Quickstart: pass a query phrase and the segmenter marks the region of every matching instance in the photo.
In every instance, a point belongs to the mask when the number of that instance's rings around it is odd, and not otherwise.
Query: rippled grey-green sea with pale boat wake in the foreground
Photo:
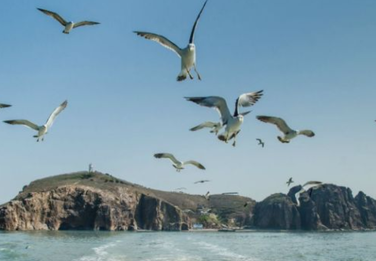
[[[0,232],[9,261],[376,261],[376,232]]]

